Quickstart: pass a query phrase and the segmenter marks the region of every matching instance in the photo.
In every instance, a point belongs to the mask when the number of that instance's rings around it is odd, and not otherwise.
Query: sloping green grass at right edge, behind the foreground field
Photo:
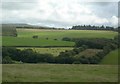
[[[117,65],[118,64],[118,52],[120,52],[120,49],[111,51],[108,55],[104,57],[104,59],[101,61],[101,64]]]

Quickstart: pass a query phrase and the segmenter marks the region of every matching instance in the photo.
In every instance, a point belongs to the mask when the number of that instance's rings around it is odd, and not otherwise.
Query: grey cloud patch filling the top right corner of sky
[[[93,2],[89,5],[93,12],[100,17],[110,18],[118,14],[117,2]]]

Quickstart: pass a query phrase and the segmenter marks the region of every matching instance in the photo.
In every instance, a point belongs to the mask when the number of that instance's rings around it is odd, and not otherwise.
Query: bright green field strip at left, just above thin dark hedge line
[[[19,37],[3,37],[3,46],[74,46],[74,42]]]

